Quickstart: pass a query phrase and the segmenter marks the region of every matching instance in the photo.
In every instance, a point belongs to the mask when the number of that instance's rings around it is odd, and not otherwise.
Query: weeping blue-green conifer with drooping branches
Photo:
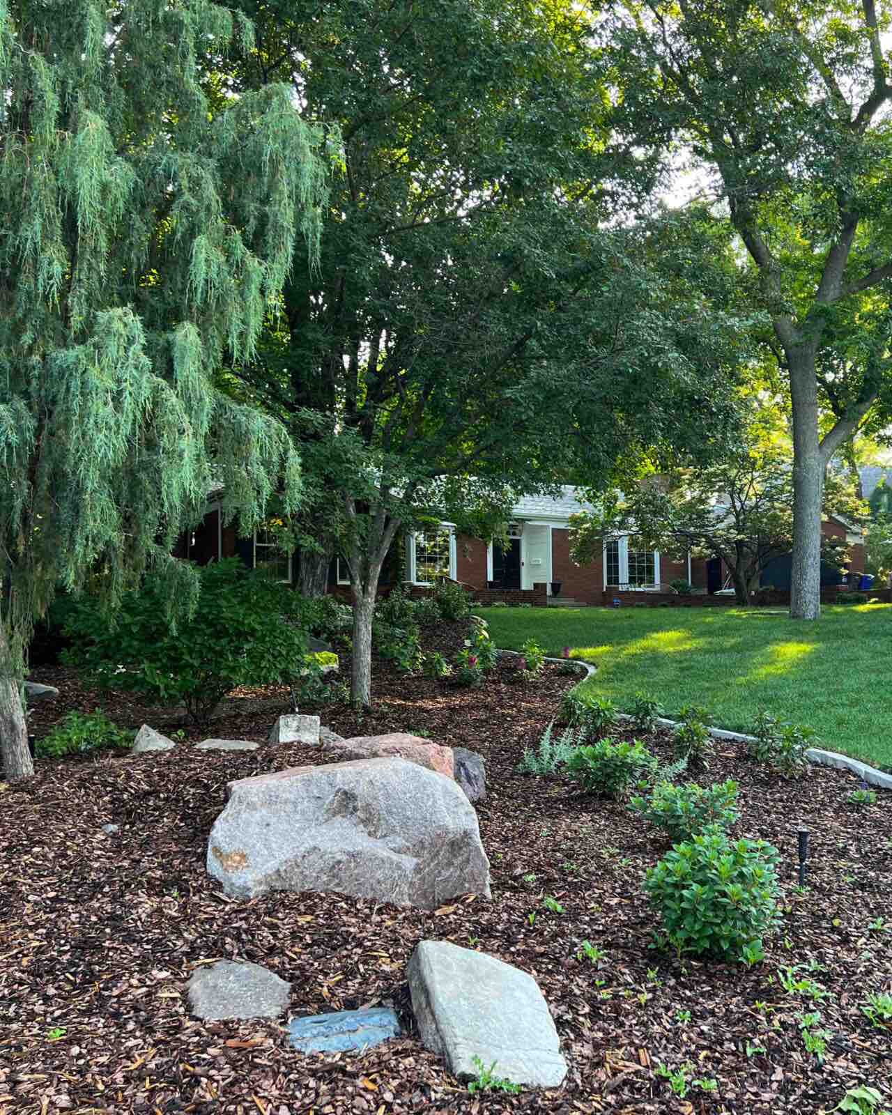
[[[250,358],[299,233],[312,258],[322,137],[271,85],[209,113],[197,54],[250,26],[205,0],[109,9],[0,0],[0,745],[32,773],[19,685],[57,586],[109,601],[168,555],[212,481],[246,525],[298,459],[221,395]]]

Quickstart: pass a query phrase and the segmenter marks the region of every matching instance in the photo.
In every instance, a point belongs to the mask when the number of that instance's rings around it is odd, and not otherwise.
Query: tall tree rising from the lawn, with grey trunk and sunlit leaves
[[[740,289],[767,313],[766,345],[789,382],[799,619],[821,610],[826,466],[892,416],[884,8],[626,0],[593,25],[622,90],[618,134],[651,149],[683,144],[745,245]]]

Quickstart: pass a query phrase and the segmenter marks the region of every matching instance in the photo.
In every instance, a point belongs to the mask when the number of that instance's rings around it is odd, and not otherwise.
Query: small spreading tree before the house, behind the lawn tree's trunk
[[[864,517],[851,481],[830,474],[823,512]],[[735,599],[747,607],[766,566],[793,545],[793,469],[779,448],[746,446],[707,468],[680,468],[636,485],[602,510],[571,517],[571,556],[581,564],[601,556],[604,540],[630,534],[646,550],[682,561],[719,558]],[[836,569],[847,561],[844,540],[822,539],[822,558]]]

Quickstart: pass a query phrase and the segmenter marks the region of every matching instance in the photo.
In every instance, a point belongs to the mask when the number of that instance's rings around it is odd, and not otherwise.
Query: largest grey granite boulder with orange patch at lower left
[[[489,898],[477,815],[450,779],[400,758],[293,767],[229,785],[207,870],[234,898],[337,891],[434,910]]]

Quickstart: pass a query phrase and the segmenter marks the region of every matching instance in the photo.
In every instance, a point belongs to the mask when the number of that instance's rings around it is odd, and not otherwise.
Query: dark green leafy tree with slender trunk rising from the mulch
[[[650,204],[650,167],[599,120],[604,78],[572,3],[244,10],[259,49],[232,52],[235,87],[290,81],[309,118],[339,124],[345,162],[318,272],[295,269],[281,329],[229,389],[300,446],[317,495],[298,537],[316,531],[319,559],[349,568],[367,704],[398,529],[484,532],[517,493],[723,442],[736,326],[697,287],[708,254],[658,271],[620,220]]]

